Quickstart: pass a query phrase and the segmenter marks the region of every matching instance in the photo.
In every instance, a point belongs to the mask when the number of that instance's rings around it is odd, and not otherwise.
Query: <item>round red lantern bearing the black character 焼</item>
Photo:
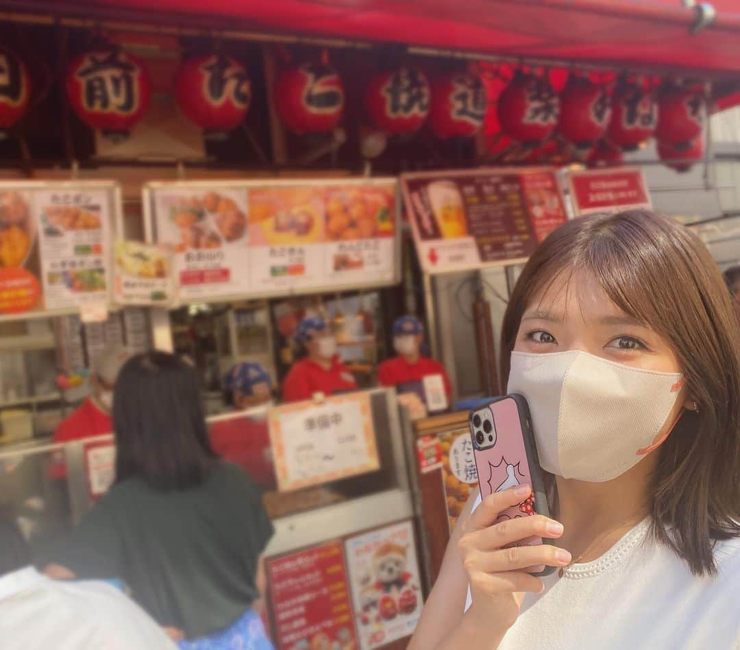
[[[380,72],[371,79],[365,105],[370,121],[381,131],[391,135],[412,133],[428,115],[430,95],[424,73],[402,67]]]

